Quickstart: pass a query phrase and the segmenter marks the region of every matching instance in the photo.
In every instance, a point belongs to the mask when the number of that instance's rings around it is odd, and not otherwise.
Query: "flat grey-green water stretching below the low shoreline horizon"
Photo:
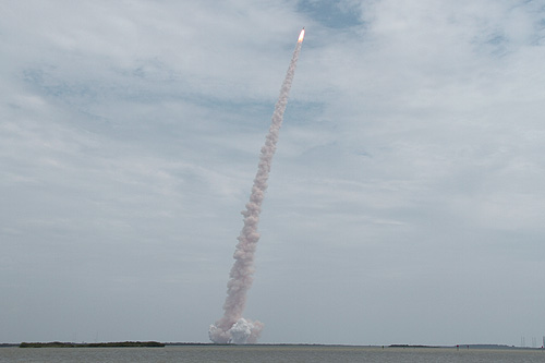
[[[0,362],[545,362],[545,352],[323,346],[0,348]]]

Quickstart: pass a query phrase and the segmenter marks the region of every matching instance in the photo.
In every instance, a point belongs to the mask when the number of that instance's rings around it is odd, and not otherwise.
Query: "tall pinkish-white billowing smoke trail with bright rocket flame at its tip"
[[[257,341],[259,332],[263,329],[263,323],[252,322],[242,317],[246,305],[246,292],[252,286],[252,275],[254,274],[254,253],[259,240],[257,233],[257,223],[262,211],[262,203],[267,189],[267,179],[270,172],[270,164],[275,155],[278,133],[282,125],[283,112],[288,104],[291,83],[295,73],[299,52],[304,38],[304,28],[299,35],[298,45],[293,51],[288,73],[280,88],[280,96],[275,106],[269,133],[262,147],[257,173],[254,179],[250,202],[246,204],[246,210],[242,211],[244,216],[244,227],[238,238],[239,243],[234,251],[234,264],[231,268],[230,279],[227,283],[227,298],[223,304],[223,317],[210,325],[208,336],[215,343],[253,343]]]

